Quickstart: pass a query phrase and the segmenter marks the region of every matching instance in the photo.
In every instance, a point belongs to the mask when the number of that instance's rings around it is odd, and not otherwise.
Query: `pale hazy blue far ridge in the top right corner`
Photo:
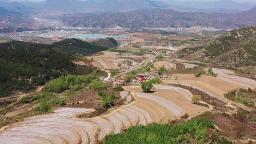
[[[170,3],[178,6],[187,6],[196,9],[219,10],[219,11],[234,11],[243,12],[251,9],[256,2],[236,2],[232,0],[218,1],[178,1],[178,0],[162,0],[165,3]]]

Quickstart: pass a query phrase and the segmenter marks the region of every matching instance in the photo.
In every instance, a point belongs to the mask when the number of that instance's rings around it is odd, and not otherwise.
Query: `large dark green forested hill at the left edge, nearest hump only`
[[[34,89],[71,72],[75,67],[71,59],[69,53],[47,45],[23,42],[0,44],[0,97],[10,96],[18,90]]]

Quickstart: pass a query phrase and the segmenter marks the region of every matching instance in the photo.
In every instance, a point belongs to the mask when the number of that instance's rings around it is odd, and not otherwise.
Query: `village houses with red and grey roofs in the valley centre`
[[[152,69],[149,72],[143,72],[143,73],[139,73],[136,75],[135,79],[131,79],[130,82],[131,83],[143,83],[146,82],[148,80],[150,80],[152,78],[152,76],[156,77],[158,76],[158,69]],[[163,72],[163,76],[158,76],[158,79],[162,80],[162,79],[166,79],[168,78],[169,73],[167,72]],[[109,84],[113,84],[113,85],[118,85],[118,84],[126,84],[125,81],[123,80],[126,77],[126,75],[122,75],[121,79],[115,79],[115,80],[108,80],[107,82]]]

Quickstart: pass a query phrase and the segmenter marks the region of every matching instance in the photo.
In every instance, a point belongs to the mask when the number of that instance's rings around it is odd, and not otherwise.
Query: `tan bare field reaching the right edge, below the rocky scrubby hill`
[[[175,76],[178,77],[174,80]],[[163,80],[163,82],[190,84],[199,87],[201,90],[207,92],[209,95],[217,96],[220,99],[226,99],[223,94],[242,87],[256,87],[256,81],[234,75],[219,74],[218,77],[202,75],[199,78],[195,78],[194,74],[173,74],[171,80]]]

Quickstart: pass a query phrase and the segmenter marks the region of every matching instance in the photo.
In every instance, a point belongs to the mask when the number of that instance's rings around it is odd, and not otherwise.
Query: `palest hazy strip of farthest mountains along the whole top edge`
[[[40,2],[13,2],[0,0],[0,7],[9,9],[35,9],[38,11],[108,11],[124,12],[132,10],[151,10],[154,8],[173,9],[181,12],[242,12],[251,9],[256,3],[238,3],[232,0],[211,1],[188,1],[177,0],[156,1],[156,0],[46,0]],[[47,12],[44,11],[44,12]]]

